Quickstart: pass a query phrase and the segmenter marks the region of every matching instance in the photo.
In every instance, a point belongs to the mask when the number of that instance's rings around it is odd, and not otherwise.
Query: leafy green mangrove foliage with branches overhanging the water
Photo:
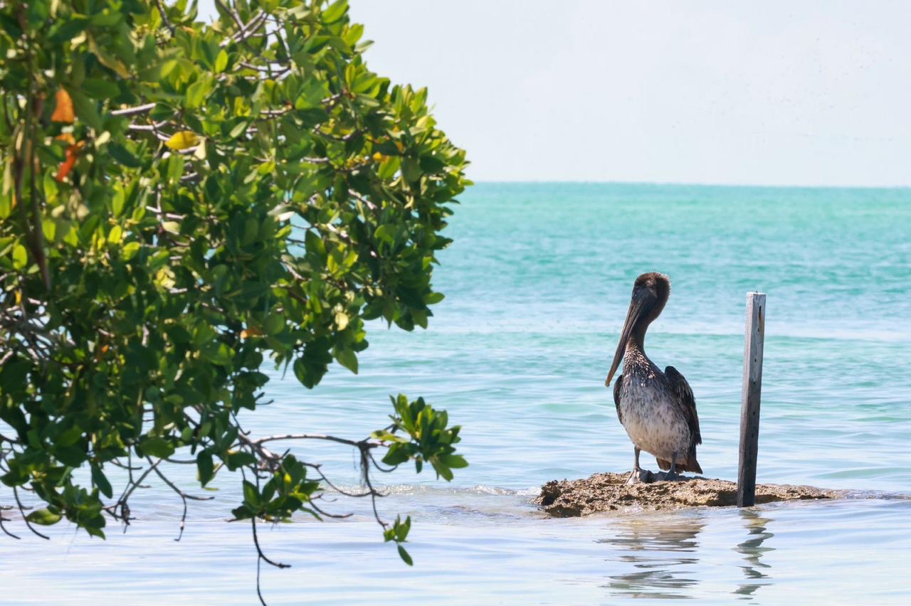
[[[216,5],[204,24],[187,0],[0,3],[0,480],[46,503],[30,522],[104,536],[186,450],[202,485],[245,471],[239,519],[320,515],[318,465],[238,422],[262,365],[307,388],[333,361],[356,373],[366,321],[425,328],[443,298],[469,182],[426,90],[370,71],[345,0]],[[445,412],[394,409],[337,441],[368,469],[376,448],[446,480],[466,465]]]

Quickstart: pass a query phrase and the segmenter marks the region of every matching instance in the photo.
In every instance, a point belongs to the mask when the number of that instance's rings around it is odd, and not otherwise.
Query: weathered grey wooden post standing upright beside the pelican
[[[746,294],[746,344],[743,348],[740,467],[737,471],[737,507],[756,501],[756,454],[759,448],[759,399],[763,388],[765,295]]]

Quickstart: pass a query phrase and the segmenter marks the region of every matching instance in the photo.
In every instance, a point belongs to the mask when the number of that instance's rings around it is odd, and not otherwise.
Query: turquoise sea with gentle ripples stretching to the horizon
[[[263,527],[270,603],[911,601],[911,190],[479,184],[455,207],[430,328],[376,324],[361,374],[308,391],[274,374],[255,433],[361,438],[388,395],[423,395],[461,424],[455,480],[400,470],[381,514],[414,520],[410,569],[369,504],[347,520]],[[829,502],[748,510],[543,518],[547,480],[629,470],[604,387],[633,279],[670,275],[646,341],[696,395],[705,475],[735,479],[745,293],[767,294],[759,481],[844,490]],[[354,486],[350,449],[295,447]],[[654,460],[644,457],[651,469]],[[189,466],[173,475],[193,480]],[[107,541],[73,527],[0,539],[3,603],[254,603],[249,526],[236,500],[191,503],[154,485]]]

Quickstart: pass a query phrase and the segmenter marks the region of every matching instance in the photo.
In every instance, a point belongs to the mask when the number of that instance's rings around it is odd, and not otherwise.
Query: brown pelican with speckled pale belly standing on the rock
[[[623,374],[614,384],[614,404],[635,453],[630,483],[649,477],[639,466],[640,450],[654,455],[658,466],[668,470],[660,474],[665,480],[679,478],[678,471],[702,473],[696,460],[696,445],[702,443],[702,437],[690,384],[674,367],[661,372],[645,355],[645,331],[660,316],[669,296],[670,278],[664,274],[650,272],[636,278],[617,353],[604,382],[610,386],[622,359]]]

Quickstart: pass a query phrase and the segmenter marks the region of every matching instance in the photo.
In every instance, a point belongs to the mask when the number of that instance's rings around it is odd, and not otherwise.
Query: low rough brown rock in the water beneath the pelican
[[[596,473],[581,480],[552,480],[541,487],[535,504],[556,518],[587,516],[599,511],[676,510],[725,507],[737,503],[737,484],[727,480],[686,478],[627,484],[628,473]],[[756,485],[756,504],[776,500],[832,499],[832,490],[812,486]]]

